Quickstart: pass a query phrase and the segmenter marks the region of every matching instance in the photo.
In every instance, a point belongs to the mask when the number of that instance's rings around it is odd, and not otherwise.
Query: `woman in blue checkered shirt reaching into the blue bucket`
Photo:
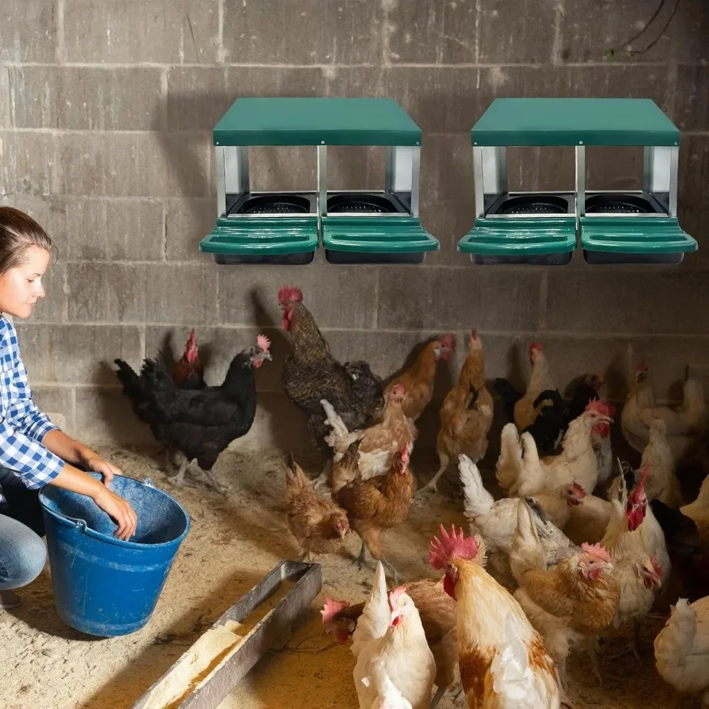
[[[56,485],[90,497],[128,540],[138,518],[111,492],[121,470],[67,436],[32,401],[17,335],[6,316],[28,318],[44,298],[42,277],[52,242],[25,213],[0,207],[0,609],[20,603],[14,588],[33,581],[45,564],[38,489]],[[103,481],[79,469],[99,472]]]

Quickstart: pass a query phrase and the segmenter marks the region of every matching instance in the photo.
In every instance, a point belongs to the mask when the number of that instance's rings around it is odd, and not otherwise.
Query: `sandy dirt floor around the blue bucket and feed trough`
[[[181,501],[192,528],[177,555],[150,622],[132,635],[96,640],[68,627],[55,613],[48,567],[21,590],[23,605],[0,612],[0,705],[64,709],[126,709],[208,628],[216,618],[281,559],[298,558],[298,549],[280,510],[284,473],[280,459],[264,454],[225,452],[214,472],[230,493],[223,498],[203,479],[176,489],[157,455],[106,450],[125,474],[152,477]],[[416,469],[414,470],[416,472]],[[314,470],[313,470],[314,473]],[[429,471],[426,471],[427,476]],[[403,580],[428,576],[426,550],[440,522],[464,523],[462,503],[441,496],[417,501],[405,525],[384,536],[391,562]],[[467,527],[466,527],[467,528]],[[357,708],[352,682],[354,658],[347,645],[323,635],[319,610],[325,595],[363,600],[371,570],[352,564],[359,540],[352,534],[342,555],[320,559],[323,591],[281,652],[271,652],[236,686],[220,709],[280,707]],[[688,707],[654,669],[652,638],[663,625],[649,620],[642,636],[643,661],[632,655],[610,659],[623,639],[605,644],[603,687],[588,659],[578,654],[569,665],[574,707],[654,709]],[[696,706],[699,700],[696,699]],[[454,706],[445,697],[441,709]]]

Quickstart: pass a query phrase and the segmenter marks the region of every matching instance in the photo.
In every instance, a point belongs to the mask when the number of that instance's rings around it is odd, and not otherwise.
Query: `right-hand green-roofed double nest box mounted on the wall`
[[[591,264],[678,264],[697,242],[677,220],[679,129],[649,99],[496,99],[471,130],[479,264],[562,265],[577,234]],[[508,191],[508,146],[575,147],[575,189]],[[586,191],[586,146],[642,146],[643,189]]]

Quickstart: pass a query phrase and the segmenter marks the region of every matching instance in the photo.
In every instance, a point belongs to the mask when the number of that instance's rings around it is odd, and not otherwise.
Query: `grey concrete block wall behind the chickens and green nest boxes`
[[[275,361],[240,445],[301,446],[284,402],[276,294],[299,284],[333,352],[387,375],[415,345],[476,327],[489,377],[525,381],[533,337],[557,384],[607,369],[622,399],[644,355],[675,400],[709,373],[709,8],[681,0],[630,48],[655,0],[0,0],[0,196],[48,228],[48,297],[18,323],[35,396],[89,441],[149,442],[116,387],[197,328],[218,382],[258,331]],[[668,24],[669,21],[669,24]],[[664,31],[663,31],[664,28]],[[657,42],[653,40],[658,37]],[[649,46],[648,45],[652,45]],[[610,48],[615,48],[610,56]],[[391,96],[423,128],[421,218],[441,242],[420,267],[218,267],[198,251],[216,213],[211,128],[238,96]],[[648,96],[683,131],[680,267],[474,267],[469,129],[496,96]],[[330,150],[335,186],[379,186],[379,149]],[[313,150],[253,150],[256,186],[314,184]],[[517,150],[510,179],[568,185],[571,150]],[[635,188],[640,152],[589,150],[591,186]],[[578,255],[577,255],[578,256]],[[438,396],[464,352],[442,369]],[[436,404],[422,421],[432,447]]]

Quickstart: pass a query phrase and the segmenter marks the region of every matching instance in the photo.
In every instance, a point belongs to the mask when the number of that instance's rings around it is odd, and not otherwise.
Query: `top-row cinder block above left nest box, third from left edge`
[[[379,57],[379,5],[264,0],[224,4],[229,64],[362,64]],[[284,38],[298,38],[287,40]]]

